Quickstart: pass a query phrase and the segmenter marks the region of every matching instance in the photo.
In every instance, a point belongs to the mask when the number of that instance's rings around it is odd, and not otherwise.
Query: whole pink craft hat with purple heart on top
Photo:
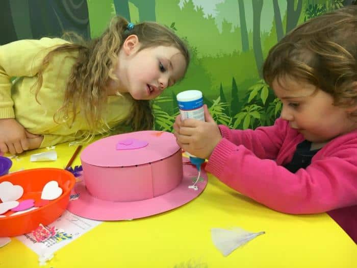
[[[172,133],[139,131],[100,139],[81,154],[83,181],[71,194],[68,210],[100,221],[132,220],[180,207],[207,185],[204,170],[198,190],[188,188],[198,175],[183,158]]]

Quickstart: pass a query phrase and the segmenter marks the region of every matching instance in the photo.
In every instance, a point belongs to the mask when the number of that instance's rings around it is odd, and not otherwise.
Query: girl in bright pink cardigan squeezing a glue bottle
[[[274,210],[328,212],[357,241],[357,6],[305,22],[273,46],[265,81],[283,104],[270,127],[176,117],[177,143]]]

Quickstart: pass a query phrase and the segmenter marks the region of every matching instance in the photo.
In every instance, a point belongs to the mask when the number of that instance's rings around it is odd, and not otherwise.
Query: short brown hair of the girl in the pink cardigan
[[[269,51],[263,76],[271,86],[286,77],[329,93],[335,106],[357,104],[357,6],[313,18]]]

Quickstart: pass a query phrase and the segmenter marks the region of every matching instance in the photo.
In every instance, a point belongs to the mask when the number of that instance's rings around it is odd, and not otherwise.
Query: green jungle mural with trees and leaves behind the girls
[[[343,0],[3,0],[0,44],[75,31],[94,38],[114,15],[153,20],[183,37],[191,52],[186,78],[154,101],[155,129],[172,131],[176,94],[203,92],[219,124],[271,125],[281,103],[262,80],[264,58],[303,21],[351,4]]]

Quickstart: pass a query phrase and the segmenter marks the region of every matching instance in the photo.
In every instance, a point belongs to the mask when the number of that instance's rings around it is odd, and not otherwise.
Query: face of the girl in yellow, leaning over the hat
[[[123,44],[125,45],[125,43]],[[138,51],[140,43],[123,46],[124,56],[119,56],[117,76],[120,92],[129,92],[136,100],[151,100],[163,90],[183,78],[186,60],[173,46],[156,46]]]

